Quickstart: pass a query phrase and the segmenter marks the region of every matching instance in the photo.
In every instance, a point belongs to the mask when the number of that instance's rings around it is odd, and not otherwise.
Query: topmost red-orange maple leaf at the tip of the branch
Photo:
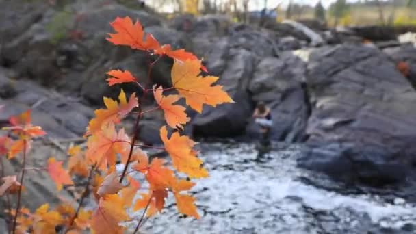
[[[112,25],[116,34],[109,34],[111,38],[107,38],[107,40],[113,44],[127,45],[131,49],[140,49],[143,51],[160,47],[159,42],[157,42],[152,34],[144,34],[143,27],[139,21],[133,24],[133,21],[129,17],[117,17],[110,25]],[[146,40],[143,40],[145,37]]]

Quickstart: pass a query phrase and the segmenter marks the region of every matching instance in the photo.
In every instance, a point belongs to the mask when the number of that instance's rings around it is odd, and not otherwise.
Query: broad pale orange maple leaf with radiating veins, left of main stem
[[[122,156],[122,161],[127,161],[129,146],[129,137],[124,129],[117,133],[116,127],[109,124],[88,138],[86,157],[90,164],[97,164],[98,168],[105,170],[107,166],[116,164],[117,154]]]

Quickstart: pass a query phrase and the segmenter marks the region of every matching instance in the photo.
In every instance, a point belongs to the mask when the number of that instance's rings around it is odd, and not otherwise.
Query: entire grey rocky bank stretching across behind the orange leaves
[[[400,44],[395,37],[363,43],[363,29],[308,28],[293,22],[260,29],[226,16],[166,21],[116,1],[75,1],[65,7],[43,1],[0,3],[0,62],[9,70],[0,71],[1,103],[6,104],[1,121],[31,107],[51,135],[81,135],[92,115],[87,106],[116,95],[104,82],[107,70],[129,69],[138,77],[147,73],[146,56],[105,40],[110,21],[130,16],[160,42],[204,57],[209,72],[221,77],[237,102],[196,116],[185,129],[194,137],[256,139],[258,129],[250,117],[255,103],[264,101],[272,109],[273,140],[309,145],[298,161],[301,166],[372,185],[402,182],[415,171],[413,44]],[[374,40],[380,38],[386,39]],[[406,62],[408,74],[398,71],[398,62]],[[168,59],[157,62],[152,81],[168,86],[171,64]],[[55,99],[50,91],[38,92],[45,90],[38,84],[70,96],[75,104]],[[157,134],[151,133],[161,125],[157,114],[145,118],[142,140],[157,144]]]

